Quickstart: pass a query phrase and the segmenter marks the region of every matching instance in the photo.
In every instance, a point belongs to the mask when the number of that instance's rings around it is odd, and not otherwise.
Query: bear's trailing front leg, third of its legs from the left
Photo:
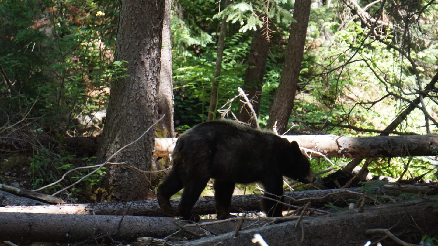
[[[231,198],[233,196],[235,183],[215,180],[215,208],[218,219],[230,218]]]

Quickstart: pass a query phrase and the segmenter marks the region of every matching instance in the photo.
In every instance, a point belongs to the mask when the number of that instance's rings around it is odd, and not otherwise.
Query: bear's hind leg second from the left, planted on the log
[[[199,221],[199,215],[192,214],[191,209],[201,196],[202,191],[207,185],[209,178],[207,179],[195,179],[184,183],[183,194],[181,195],[181,201],[178,205],[178,212],[184,220],[190,220],[194,222]]]

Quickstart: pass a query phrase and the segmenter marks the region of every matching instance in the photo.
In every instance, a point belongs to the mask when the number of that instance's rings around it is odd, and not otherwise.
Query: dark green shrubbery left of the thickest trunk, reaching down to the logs
[[[105,15],[106,13],[106,15]],[[113,60],[117,3],[67,0],[5,0],[0,4],[1,134],[51,135],[62,143],[73,119],[105,107],[109,83],[126,76],[123,61]],[[15,124],[22,122],[22,124]],[[38,143],[35,143],[38,144]],[[62,148],[35,146],[29,159],[32,186],[52,183],[92,158],[78,160]],[[88,170],[45,190],[52,193]],[[81,185],[99,182],[102,171]],[[75,195],[81,187],[71,190]]]

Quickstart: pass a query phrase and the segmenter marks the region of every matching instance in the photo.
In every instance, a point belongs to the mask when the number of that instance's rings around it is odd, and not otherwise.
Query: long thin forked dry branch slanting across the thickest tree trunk
[[[166,116],[166,114],[164,114],[163,116],[161,116],[161,118],[159,118],[155,123],[153,123],[152,126],[150,126],[150,127],[149,127],[149,128],[143,133],[143,134],[141,134],[140,137],[138,137],[136,140],[134,140],[134,141],[132,141],[131,143],[126,144],[125,146],[123,146],[122,148],[120,148],[118,151],[116,151],[113,155],[111,155],[111,156],[110,156],[105,162],[103,162],[102,164],[99,164],[99,165],[93,165],[93,166],[88,166],[88,167],[78,167],[78,168],[75,168],[75,169],[71,169],[70,171],[66,172],[66,173],[61,177],[61,179],[59,179],[59,180],[57,180],[57,181],[55,181],[55,182],[53,182],[53,183],[51,183],[51,184],[48,184],[48,185],[46,185],[46,186],[43,186],[43,187],[41,187],[41,188],[39,188],[39,189],[32,190],[32,191],[38,191],[38,190],[46,189],[47,187],[53,186],[53,185],[55,185],[55,184],[57,184],[57,183],[60,183],[62,180],[64,180],[65,176],[66,176],[68,173],[73,172],[73,171],[75,171],[75,170],[78,170],[78,169],[85,169],[85,168],[95,168],[95,167],[97,167],[97,169],[95,169],[95,170],[93,170],[92,172],[88,173],[87,175],[83,176],[81,179],[79,179],[78,181],[74,182],[73,184],[71,184],[71,185],[65,187],[65,188],[62,189],[62,190],[58,190],[57,192],[53,193],[52,196],[55,196],[55,195],[57,195],[57,194],[63,192],[64,190],[70,189],[71,187],[77,185],[78,183],[80,183],[82,180],[84,180],[84,179],[87,178],[88,176],[90,176],[90,175],[92,175],[93,173],[95,173],[95,172],[99,171],[100,169],[102,169],[102,167],[103,167],[104,165],[108,164],[109,161],[110,161],[112,158],[114,158],[116,155],[118,155],[118,154],[119,154],[120,152],[122,152],[124,149],[128,148],[128,147],[131,146],[132,144],[135,144],[137,141],[139,141],[143,136],[145,136],[145,134],[146,134],[149,130],[152,129],[152,127],[154,127],[157,123],[159,123],[159,122],[164,118],[164,116]]]

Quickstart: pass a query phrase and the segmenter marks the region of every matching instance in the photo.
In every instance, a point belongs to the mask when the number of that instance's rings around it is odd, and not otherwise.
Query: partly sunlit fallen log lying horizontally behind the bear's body
[[[339,137],[336,135],[284,136],[297,141],[301,147],[318,151],[328,157],[377,158],[403,156],[432,156],[438,149],[438,134],[377,137]],[[177,138],[155,138],[154,156],[169,155]],[[50,141],[46,141],[50,143]],[[0,138],[0,150],[31,149],[26,141]],[[94,155],[97,141],[93,137],[66,138],[67,149],[79,155]],[[313,156],[320,156],[312,154]]]

